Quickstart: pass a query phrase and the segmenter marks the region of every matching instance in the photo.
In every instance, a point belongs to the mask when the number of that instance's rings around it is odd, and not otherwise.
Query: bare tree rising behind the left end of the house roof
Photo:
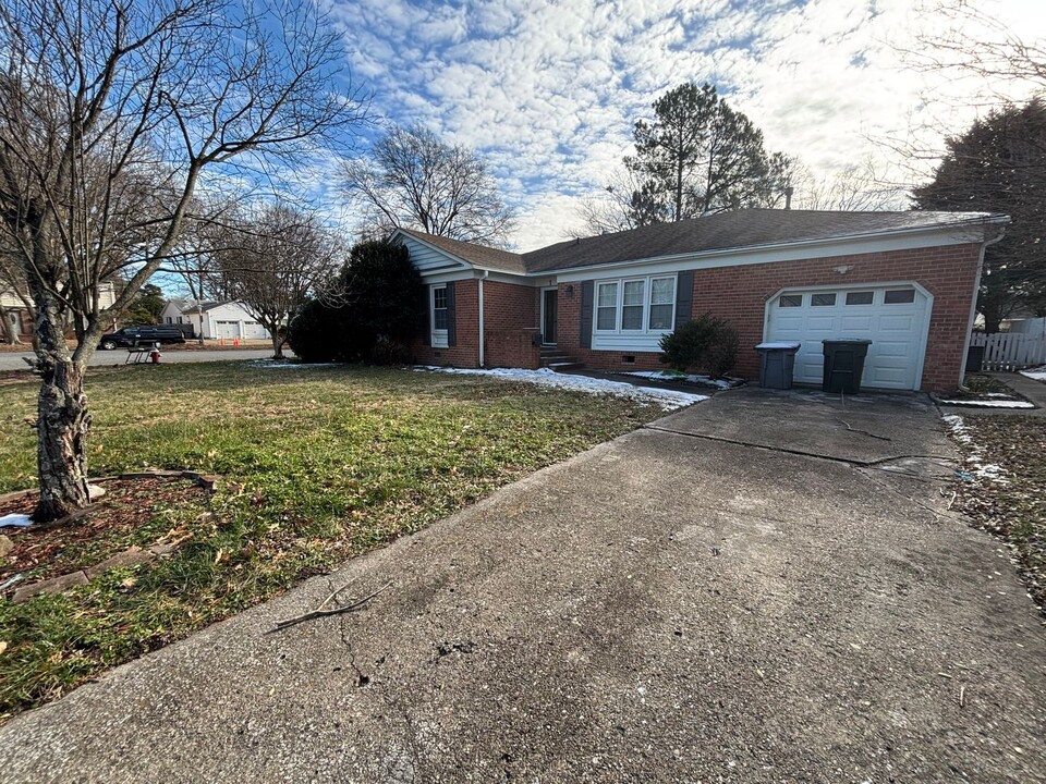
[[[403,226],[503,246],[514,228],[486,163],[426,128],[394,127],[370,155],[345,163],[344,191],[363,212],[363,234]]]

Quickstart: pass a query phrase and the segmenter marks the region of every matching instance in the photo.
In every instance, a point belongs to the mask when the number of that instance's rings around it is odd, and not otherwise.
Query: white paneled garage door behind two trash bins
[[[822,382],[823,340],[867,339],[862,387],[919,389],[931,307],[915,286],[789,291],[767,310],[765,340],[802,343],[796,383]]]

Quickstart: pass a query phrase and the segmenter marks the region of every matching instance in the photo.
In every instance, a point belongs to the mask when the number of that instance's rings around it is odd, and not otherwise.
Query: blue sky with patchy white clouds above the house
[[[919,9],[936,0],[329,1],[375,117],[476,150],[518,211],[518,250],[581,225],[581,199],[620,168],[635,120],[686,81],[715,84],[815,179],[869,160],[912,184],[933,156],[911,171],[899,145],[939,150],[999,91],[1029,94],[912,68],[917,33],[948,24]],[[1046,39],[1043,0],[972,2]]]

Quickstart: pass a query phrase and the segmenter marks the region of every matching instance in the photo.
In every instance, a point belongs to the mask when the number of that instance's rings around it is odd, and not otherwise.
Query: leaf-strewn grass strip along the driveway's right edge
[[[1027,591],[1046,609],[1046,419],[975,416],[963,422],[983,463],[1000,466],[1005,482],[960,482],[963,511],[1009,546]],[[971,445],[959,444],[971,453]]]

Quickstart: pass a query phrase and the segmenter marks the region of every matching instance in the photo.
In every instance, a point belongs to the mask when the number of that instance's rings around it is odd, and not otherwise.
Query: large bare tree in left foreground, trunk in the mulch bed
[[[0,5],[0,228],[36,308],[36,520],[88,503],[83,382],[101,283],[133,269],[113,309],[126,307],[208,172],[242,182],[358,122],[358,99],[336,89],[340,59],[339,33],[306,0]]]

